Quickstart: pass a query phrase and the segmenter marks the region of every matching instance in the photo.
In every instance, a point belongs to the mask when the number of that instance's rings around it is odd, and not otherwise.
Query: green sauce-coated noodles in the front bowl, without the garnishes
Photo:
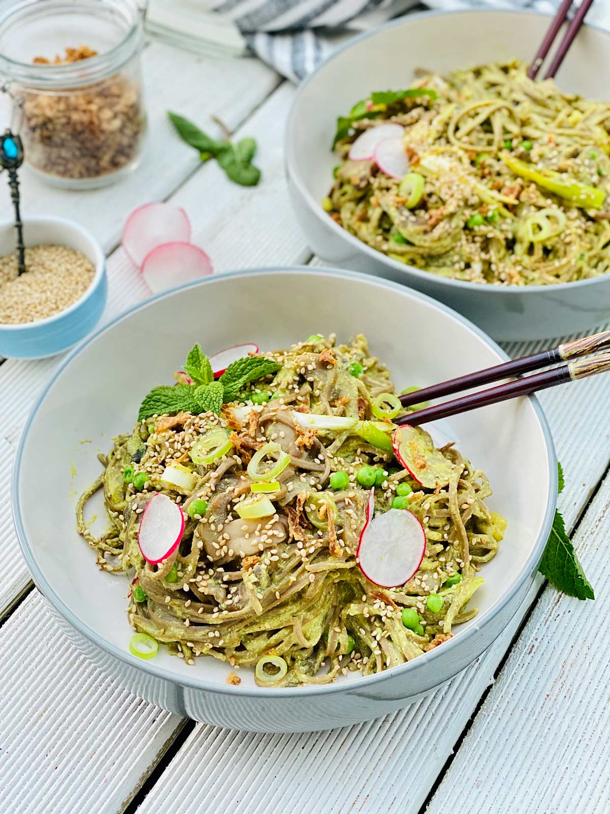
[[[325,684],[349,671],[371,675],[442,645],[454,625],[476,615],[468,602],[482,582],[478,571],[495,556],[506,525],[486,505],[491,494],[486,476],[451,444],[441,450],[451,478],[432,490],[364,440],[359,431],[372,418],[373,399],[393,393],[394,384],[363,336],[350,345],[336,344],[332,335],[311,339],[266,354],[281,369],[246,386],[220,416],[154,417],[120,435],[100,458],[102,475],[76,510],[78,530],[95,549],[98,567],[126,575],[139,589],[130,592],[128,610],[137,632],[164,643],[188,664],[205,655],[231,667],[255,667],[264,658],[277,667],[276,657],[284,659],[286,670],[279,662],[277,679],[261,672],[265,663],[259,665],[256,681],[268,687]],[[261,390],[270,400],[253,404]],[[349,429],[305,430],[295,422],[295,410],[356,423]],[[232,449],[210,466],[195,465],[190,449],[218,427],[231,432]],[[279,490],[265,496],[275,514],[241,520],[237,507],[251,496],[247,465],[268,441],[290,456],[277,475]],[[172,462],[193,473],[192,488],[170,488],[163,481]],[[382,470],[376,513],[390,510],[399,484],[403,494],[408,484],[408,508],[425,528],[419,570],[393,589],[369,582],[355,560],[370,494],[356,479],[361,466]],[[126,469],[128,481],[146,475],[142,491],[125,482]],[[347,485],[335,479],[345,488],[330,487],[333,471],[349,476]],[[95,537],[84,511],[99,489],[109,529]],[[174,553],[153,566],[142,557],[137,532],[146,504],[158,492],[183,507],[185,531]],[[207,502],[205,516],[190,517],[195,500]],[[442,597],[438,612],[426,604],[430,594]],[[416,611],[416,629],[403,624],[403,609]]]

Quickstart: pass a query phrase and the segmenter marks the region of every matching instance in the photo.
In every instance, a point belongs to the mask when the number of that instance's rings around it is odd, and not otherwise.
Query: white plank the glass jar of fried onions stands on
[[[168,110],[187,116],[218,137],[220,129],[212,115],[235,129],[281,81],[257,59],[213,59],[161,42],[150,43],[142,61],[149,128],[139,167],[119,183],[85,192],[55,189],[24,168],[24,217],[30,213],[72,217],[109,251],[120,239],[125,217],[133,208],[165,199],[199,167],[197,152],[173,131]],[[10,219],[11,212],[9,196],[2,195],[2,219]]]

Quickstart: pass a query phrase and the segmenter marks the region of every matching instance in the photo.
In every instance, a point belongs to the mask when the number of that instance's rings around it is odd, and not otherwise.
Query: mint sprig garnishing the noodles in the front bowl
[[[155,387],[142,400],[137,420],[145,421],[152,415],[181,412],[220,414],[222,405],[234,401],[246,384],[277,373],[280,368],[277,361],[267,357],[245,357],[232,362],[215,382],[210,360],[201,346],[196,344],[190,349],[185,364],[185,371],[193,384]]]

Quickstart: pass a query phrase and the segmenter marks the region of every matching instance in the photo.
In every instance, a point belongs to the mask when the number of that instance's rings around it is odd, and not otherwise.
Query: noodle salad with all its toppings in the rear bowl
[[[610,103],[531,81],[525,63],[420,71],[338,119],[323,206],[431,274],[548,285],[610,271]]]

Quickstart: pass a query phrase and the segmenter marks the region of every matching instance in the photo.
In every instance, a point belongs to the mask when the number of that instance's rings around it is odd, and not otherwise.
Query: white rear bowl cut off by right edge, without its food
[[[372,90],[401,88],[418,66],[449,72],[511,57],[532,59],[549,24],[532,11],[407,15],[356,38],[300,86],[285,133],[286,172],[298,222],[323,260],[402,282],[451,305],[495,339],[544,339],[589,330],[610,317],[610,274],[539,287],[496,287],[436,277],[391,260],[336,224],[320,206],[337,156],[337,116]],[[557,82],[610,98],[610,33],[584,26]]]

